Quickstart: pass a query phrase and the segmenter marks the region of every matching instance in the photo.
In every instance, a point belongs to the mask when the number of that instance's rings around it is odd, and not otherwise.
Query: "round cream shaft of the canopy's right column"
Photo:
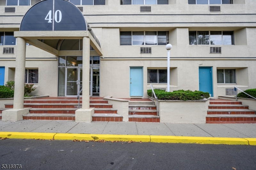
[[[83,38],[83,97],[82,109],[90,108],[90,38]]]

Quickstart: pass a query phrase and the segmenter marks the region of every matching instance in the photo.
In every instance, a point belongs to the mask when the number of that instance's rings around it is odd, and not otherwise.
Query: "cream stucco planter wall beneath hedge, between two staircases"
[[[152,99],[151,97],[148,97]],[[154,99],[156,103],[156,99]],[[160,122],[205,123],[210,99],[204,100],[158,100]]]

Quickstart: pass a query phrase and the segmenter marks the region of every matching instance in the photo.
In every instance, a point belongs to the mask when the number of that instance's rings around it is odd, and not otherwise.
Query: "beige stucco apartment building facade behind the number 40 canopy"
[[[31,5],[28,6],[9,6],[4,1],[0,3],[0,33],[6,37],[3,40],[6,42],[8,32],[14,32],[13,36],[16,36],[15,31],[19,31],[23,16],[39,0],[31,0]],[[167,50],[166,44],[159,45],[160,33],[163,32],[168,32],[165,35],[165,42],[169,39],[169,43],[172,44],[170,91],[204,91],[205,87],[200,87],[200,81],[205,80],[204,77],[200,78],[200,68],[210,69],[210,82],[206,82],[204,86],[210,86],[206,89],[211,90],[211,97],[227,95],[226,89],[234,89],[233,85],[242,90],[256,88],[255,0],[233,0],[233,4],[188,4],[188,0],[169,0],[168,4],[152,5],[121,5],[120,0],[106,0],[105,5],[76,6],[83,7],[82,14],[97,36],[101,48],[100,52],[90,49],[90,96],[146,98],[150,84],[154,88],[166,89]],[[141,6],[151,6],[151,12],[140,12]],[[209,6],[220,6],[220,12],[210,12]],[[8,7],[14,7],[15,12],[6,12]],[[123,33],[126,34],[124,43]],[[144,38],[136,36],[137,33],[144,34],[140,35]],[[154,35],[150,35],[151,33]],[[208,44],[201,43],[200,34],[204,34],[203,38]],[[228,43],[224,43],[226,34],[232,39]],[[156,43],[144,45],[147,43],[147,35],[151,36],[149,42]],[[221,37],[220,41],[218,37]],[[192,42],[193,38],[196,44]],[[141,39],[143,43],[135,45]],[[59,40],[57,43],[56,39],[48,40],[41,42],[57,50],[40,49],[34,46],[33,42],[27,41],[32,45],[26,46],[25,76],[31,76],[29,70],[38,70],[38,78],[32,82],[36,90],[31,95],[74,96],[79,91],[79,86],[75,88],[76,82],[82,82],[79,80],[79,69],[84,65],[78,59],[83,56],[82,39],[79,41],[78,49],[66,47],[67,50],[64,47],[61,49]],[[214,44],[215,41],[219,41],[217,45]],[[15,42],[14,45],[6,45],[5,42],[0,43],[0,68],[4,69],[3,83],[14,81],[15,59],[19,57],[15,52],[19,42]],[[63,41],[61,43],[64,44]],[[130,45],[124,45],[125,43]],[[191,43],[194,45],[190,45]],[[74,44],[76,43],[72,45]],[[4,54],[4,48],[9,47],[14,47],[14,52]],[[151,49],[143,49],[145,47]],[[214,50],[211,53],[211,47],[221,47],[221,51]],[[63,64],[61,59],[65,60],[64,66],[60,65]],[[73,65],[68,65],[68,62],[73,62]],[[63,74],[60,74],[60,67],[64,70]],[[141,68],[141,71],[133,72],[133,68]],[[77,79],[73,76],[73,80],[68,80],[68,69],[76,69]],[[226,73],[225,70],[230,73]],[[204,71],[202,70],[203,74]],[[32,73],[34,74],[33,71]],[[133,86],[133,77],[138,73],[142,73],[141,83]],[[226,78],[218,73],[226,75]],[[29,78],[27,83],[30,83]],[[134,88],[135,93],[139,91],[138,94],[141,95],[134,95]]]

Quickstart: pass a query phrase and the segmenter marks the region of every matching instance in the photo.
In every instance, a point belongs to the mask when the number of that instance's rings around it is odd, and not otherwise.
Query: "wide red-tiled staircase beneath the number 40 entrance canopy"
[[[25,100],[24,107],[31,107],[29,114],[23,115],[24,120],[75,120],[78,100]],[[123,121],[123,116],[117,114],[117,109],[106,100],[90,100],[90,107],[95,108],[92,121]],[[11,108],[13,104],[5,104],[5,108],[0,108],[0,114]]]

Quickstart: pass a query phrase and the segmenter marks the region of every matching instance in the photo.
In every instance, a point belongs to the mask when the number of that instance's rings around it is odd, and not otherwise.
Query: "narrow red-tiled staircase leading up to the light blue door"
[[[130,101],[129,122],[160,122],[156,113],[155,102]]]

